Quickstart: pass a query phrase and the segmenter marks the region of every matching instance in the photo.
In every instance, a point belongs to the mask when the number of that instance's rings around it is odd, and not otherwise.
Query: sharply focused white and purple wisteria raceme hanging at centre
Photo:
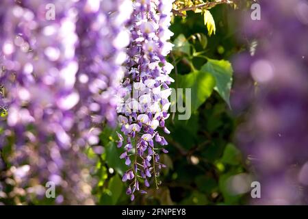
[[[164,164],[159,162],[159,153],[168,153],[163,146],[168,144],[159,130],[169,133],[165,127],[170,102],[168,96],[172,81],[169,77],[173,66],[166,62],[172,49],[168,42],[172,32],[168,29],[171,20],[172,1],[138,0],[134,3],[129,29],[131,42],[128,48],[127,72],[120,90],[122,103],[118,107],[118,147],[124,146],[120,158],[130,166],[123,181],[130,181],[127,194],[134,199],[142,182],[149,187],[150,180],[159,185],[157,176]]]

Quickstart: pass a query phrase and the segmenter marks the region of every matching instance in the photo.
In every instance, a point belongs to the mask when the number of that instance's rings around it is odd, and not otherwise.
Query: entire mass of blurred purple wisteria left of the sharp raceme
[[[55,20],[45,18],[48,3],[55,5]],[[94,203],[92,162],[84,149],[99,143],[99,125],[114,118],[129,5],[1,1],[1,103],[8,116],[0,118],[0,149],[12,147],[5,177],[16,188],[7,198],[43,198],[44,183],[52,181],[56,203]]]

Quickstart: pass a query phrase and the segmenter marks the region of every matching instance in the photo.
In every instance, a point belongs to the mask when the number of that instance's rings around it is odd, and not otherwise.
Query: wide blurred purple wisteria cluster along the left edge
[[[8,104],[8,116],[1,121],[5,130],[1,146],[11,144],[14,149],[8,157],[12,166],[6,171],[13,181],[6,182],[15,189],[7,198],[18,203],[26,194],[26,198],[31,194],[44,197],[44,183],[52,181],[60,191],[57,203],[90,202],[90,192],[82,191],[89,186],[88,179],[81,179],[82,168],[89,162],[72,146],[73,107],[79,101],[75,88],[77,14],[73,1],[64,5],[55,1],[59,18],[47,21],[40,14],[47,3],[1,1],[5,11],[1,12],[0,83]]]

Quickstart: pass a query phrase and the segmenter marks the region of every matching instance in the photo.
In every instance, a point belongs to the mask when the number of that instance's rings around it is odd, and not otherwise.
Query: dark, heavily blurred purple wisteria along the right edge
[[[234,64],[233,105],[250,109],[238,140],[261,183],[253,203],[307,205],[308,3],[259,2],[261,21],[242,19],[245,35],[257,39],[255,55]]]

